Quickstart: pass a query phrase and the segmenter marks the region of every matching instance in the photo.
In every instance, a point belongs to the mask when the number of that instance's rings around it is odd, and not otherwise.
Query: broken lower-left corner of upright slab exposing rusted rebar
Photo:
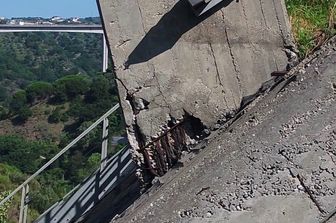
[[[126,91],[124,101],[132,109],[132,127],[126,130],[133,148],[133,158],[139,166],[137,175],[142,182],[146,182],[144,170],[148,170],[153,176],[164,175],[179,160],[183,150],[187,150],[189,146],[196,144],[209,134],[210,131],[199,118],[184,110],[182,118],[179,119],[174,118],[168,112],[166,124],[160,126],[161,131],[150,138],[146,137],[137,123],[136,115],[141,110],[148,109],[149,102],[143,98],[134,98],[134,94],[142,87],[131,91],[127,89],[122,80],[117,77],[116,80]],[[224,119],[230,115],[233,117],[232,111],[225,114]]]

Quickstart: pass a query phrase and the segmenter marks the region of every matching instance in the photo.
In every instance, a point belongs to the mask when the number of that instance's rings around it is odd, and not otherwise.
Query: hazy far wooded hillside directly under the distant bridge
[[[34,80],[94,76],[102,67],[102,44],[100,34],[1,33],[0,103]]]

